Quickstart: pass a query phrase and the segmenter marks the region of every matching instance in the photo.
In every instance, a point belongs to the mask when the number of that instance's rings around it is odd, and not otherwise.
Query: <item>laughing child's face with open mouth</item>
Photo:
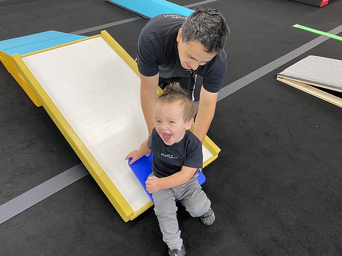
[[[185,131],[190,129],[193,119],[184,121],[183,109],[178,102],[156,104],[155,110],[156,131],[168,146],[180,142]]]

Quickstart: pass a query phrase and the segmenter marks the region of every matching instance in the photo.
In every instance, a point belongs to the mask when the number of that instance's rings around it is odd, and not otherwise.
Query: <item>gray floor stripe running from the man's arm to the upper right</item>
[[[342,25],[339,27],[329,31],[330,34],[338,34],[342,32]],[[296,57],[300,56],[301,54],[304,54],[308,50],[312,49],[313,47],[319,45],[320,43],[323,43],[324,41],[328,40],[329,37],[326,36],[320,36],[316,39],[313,39],[312,41],[302,45],[301,47],[292,50],[292,52],[284,55],[283,57],[280,57],[279,59],[272,61],[271,63],[268,63],[267,65],[253,71],[252,73],[243,76],[243,78],[240,78],[239,80],[225,86],[222,88],[217,97],[217,101],[229,96],[233,92],[236,92],[237,90],[241,89],[242,87],[254,82],[255,80],[261,78],[265,74],[271,72],[272,70],[284,65],[285,63],[289,62],[290,60],[295,59]]]

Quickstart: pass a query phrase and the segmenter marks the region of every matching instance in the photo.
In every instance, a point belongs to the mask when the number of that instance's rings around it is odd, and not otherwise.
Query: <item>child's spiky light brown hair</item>
[[[195,117],[198,109],[197,103],[188,98],[185,90],[177,82],[165,87],[158,96],[156,105],[160,103],[170,104],[175,101],[179,101],[179,105],[183,109],[183,119],[185,122]]]

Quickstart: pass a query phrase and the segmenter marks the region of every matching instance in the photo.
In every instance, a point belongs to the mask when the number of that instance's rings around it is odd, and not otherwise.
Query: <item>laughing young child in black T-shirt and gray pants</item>
[[[168,85],[157,98],[154,115],[155,128],[142,146],[128,154],[130,163],[153,152],[153,172],[146,189],[152,193],[155,214],[169,255],[185,255],[177,221],[175,200],[181,202],[192,217],[200,217],[211,225],[215,214],[211,202],[198,183],[198,169],[202,168],[202,143],[189,129],[197,111],[197,104],[188,98],[178,83]]]

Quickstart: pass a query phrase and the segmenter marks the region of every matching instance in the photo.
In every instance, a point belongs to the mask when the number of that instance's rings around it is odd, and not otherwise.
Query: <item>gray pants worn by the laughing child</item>
[[[151,175],[154,174],[151,173]],[[181,202],[192,217],[200,217],[208,212],[211,204],[198,183],[197,172],[187,183],[174,188],[161,189],[152,196],[163,241],[170,250],[181,248],[183,240],[178,227],[175,200]]]

